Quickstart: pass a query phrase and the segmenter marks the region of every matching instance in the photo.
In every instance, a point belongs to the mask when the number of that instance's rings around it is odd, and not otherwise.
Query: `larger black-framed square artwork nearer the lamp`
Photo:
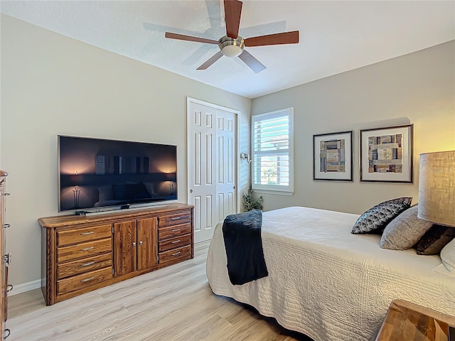
[[[414,124],[360,130],[360,182],[413,182]]]

